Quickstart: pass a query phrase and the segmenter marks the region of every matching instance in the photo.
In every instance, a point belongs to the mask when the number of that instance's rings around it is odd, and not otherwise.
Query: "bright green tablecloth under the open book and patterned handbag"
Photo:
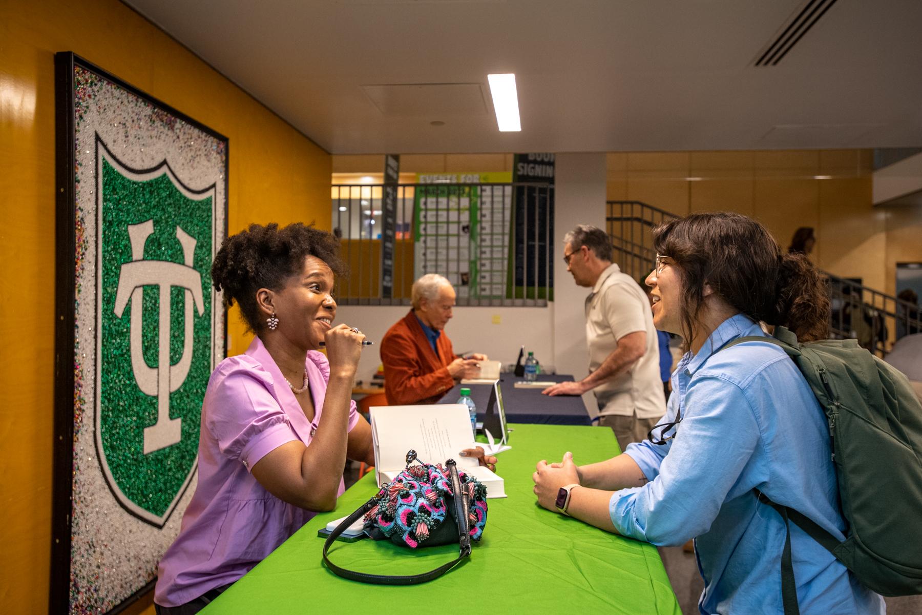
[[[509,497],[488,500],[483,539],[454,570],[409,586],[365,585],[326,570],[317,530],[374,494],[372,472],[339,498],[336,511],[314,517],[204,612],[681,615],[655,547],[550,513],[532,493],[539,459],[556,461],[570,450],[578,463],[602,461],[618,453],[612,432],[529,424],[514,430],[513,448],[500,455],[498,468]],[[367,539],[337,542],[329,552],[340,566],[374,574],[418,574],[456,555],[456,545],[411,550]]]

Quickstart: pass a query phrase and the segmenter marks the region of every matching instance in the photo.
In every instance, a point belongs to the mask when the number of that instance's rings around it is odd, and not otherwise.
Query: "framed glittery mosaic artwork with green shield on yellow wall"
[[[195,491],[226,353],[210,269],[228,139],[73,53],[54,61],[50,612],[115,613],[152,587]]]

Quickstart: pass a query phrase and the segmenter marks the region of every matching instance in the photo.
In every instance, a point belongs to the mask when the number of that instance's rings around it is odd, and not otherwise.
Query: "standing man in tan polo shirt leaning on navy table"
[[[550,386],[545,395],[583,395],[598,402],[600,426],[610,427],[621,451],[643,440],[666,413],[659,376],[653,314],[644,290],[611,262],[611,240],[594,226],[580,225],[563,240],[563,260],[585,299],[589,375]]]

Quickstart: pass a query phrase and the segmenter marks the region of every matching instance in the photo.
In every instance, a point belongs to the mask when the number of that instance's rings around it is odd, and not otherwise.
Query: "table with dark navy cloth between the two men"
[[[573,376],[557,374],[538,374],[542,382],[569,382]],[[502,389],[502,402],[506,410],[506,420],[511,423],[548,423],[550,425],[589,425],[591,420],[585,411],[583,397],[581,396],[546,396],[541,395],[541,389],[517,389],[516,382],[524,378],[516,378],[511,373],[503,373],[500,378]],[[492,384],[455,384],[438,403],[454,404],[461,395],[461,388],[470,389],[471,399],[477,406],[478,420],[483,420],[490,400]]]

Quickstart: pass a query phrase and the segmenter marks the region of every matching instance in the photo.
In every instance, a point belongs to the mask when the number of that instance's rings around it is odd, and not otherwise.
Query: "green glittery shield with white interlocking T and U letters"
[[[115,499],[162,527],[195,474],[214,364],[215,186],[164,160],[119,161],[97,136],[96,449]]]

